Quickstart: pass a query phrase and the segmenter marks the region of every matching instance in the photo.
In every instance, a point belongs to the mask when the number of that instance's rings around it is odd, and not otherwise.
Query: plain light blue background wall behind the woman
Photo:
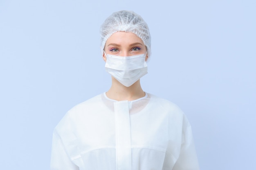
[[[111,85],[99,27],[122,9],[150,27],[142,87],[186,113],[201,170],[256,169],[255,0],[1,0],[0,169],[49,169],[58,121]]]

